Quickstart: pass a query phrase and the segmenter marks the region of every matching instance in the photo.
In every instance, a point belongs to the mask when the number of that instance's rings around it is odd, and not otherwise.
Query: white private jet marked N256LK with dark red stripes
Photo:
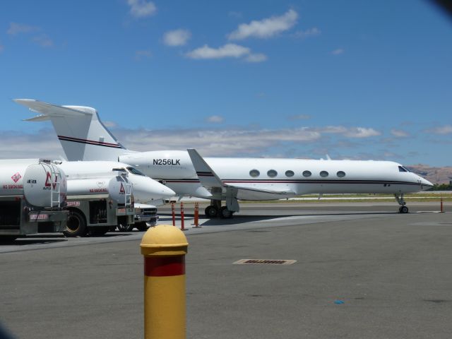
[[[121,145],[92,107],[16,99],[51,120],[68,160],[117,160],[166,184],[179,196],[210,199],[206,216],[230,218],[238,200],[274,200],[302,194],[394,194],[408,213],[404,194],[432,183],[397,162],[206,157],[194,149],[135,152]],[[225,201],[225,206],[221,206]]]

